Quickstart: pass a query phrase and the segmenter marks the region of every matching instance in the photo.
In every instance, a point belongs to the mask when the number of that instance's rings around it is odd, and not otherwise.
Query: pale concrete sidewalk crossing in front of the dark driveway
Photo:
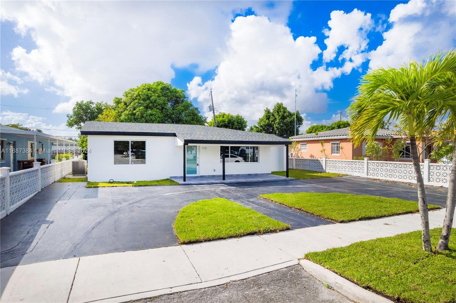
[[[429,215],[440,227],[445,209]],[[1,302],[124,302],[206,288],[298,264],[307,252],[419,229],[419,215],[408,214],[1,268]]]

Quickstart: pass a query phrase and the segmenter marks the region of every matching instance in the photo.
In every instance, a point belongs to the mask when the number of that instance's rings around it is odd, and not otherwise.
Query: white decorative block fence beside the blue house
[[[82,160],[82,156],[74,160]],[[0,175],[0,218],[9,215],[17,207],[33,197],[41,189],[71,173],[73,158],[41,166],[33,162],[33,168],[10,172],[10,167],[1,167]]]

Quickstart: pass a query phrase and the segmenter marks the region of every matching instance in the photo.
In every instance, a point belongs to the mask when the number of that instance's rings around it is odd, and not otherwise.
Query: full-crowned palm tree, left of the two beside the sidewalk
[[[429,214],[416,140],[421,140],[426,127],[432,124],[432,118],[440,117],[441,102],[434,106],[434,110],[431,102],[449,98],[448,91],[437,89],[440,86],[435,85],[439,77],[455,70],[453,60],[443,60],[448,54],[450,52],[430,56],[428,61],[420,64],[410,61],[408,66],[404,64],[397,69],[368,71],[361,79],[355,101],[349,106],[350,135],[355,146],[359,146],[364,139],[374,141],[387,116],[388,121],[398,121],[407,131],[418,188],[423,250],[428,252],[432,251]],[[451,59],[454,56],[448,57]]]

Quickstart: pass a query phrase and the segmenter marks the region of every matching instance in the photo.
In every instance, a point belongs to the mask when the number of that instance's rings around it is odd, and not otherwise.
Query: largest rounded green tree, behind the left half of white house
[[[188,101],[183,90],[169,83],[144,83],[114,98],[114,105],[98,117],[100,121],[204,125],[206,118]]]

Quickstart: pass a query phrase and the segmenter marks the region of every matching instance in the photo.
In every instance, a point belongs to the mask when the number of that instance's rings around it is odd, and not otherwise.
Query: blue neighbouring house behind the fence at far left
[[[10,172],[29,168],[33,162],[49,164],[53,146],[64,147],[66,152],[79,149],[75,141],[4,125],[0,125],[0,145],[0,167],[10,167]],[[55,149],[54,147],[54,153]]]

